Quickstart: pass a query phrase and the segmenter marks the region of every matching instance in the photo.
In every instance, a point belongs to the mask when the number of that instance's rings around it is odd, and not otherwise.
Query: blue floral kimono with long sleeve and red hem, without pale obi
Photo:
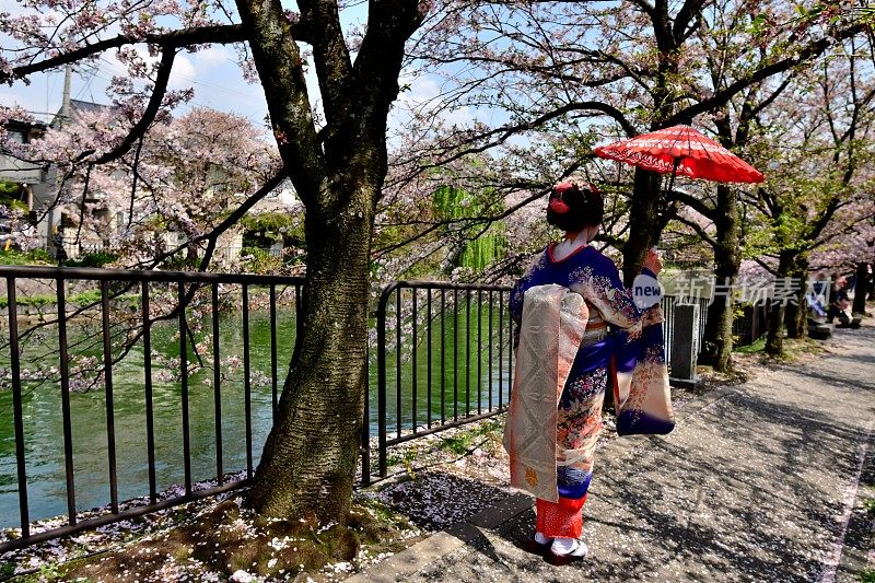
[[[653,276],[648,270],[648,275]],[[605,390],[614,390],[618,432],[667,433],[674,427],[668,399],[668,374],[657,305],[640,311],[620,280],[614,263],[592,247],[582,247],[562,260],[553,260],[551,247],[538,256],[511,292],[511,315],[518,343],[526,292],[556,284],[580,294],[585,303],[585,330],[567,378],[560,385],[556,407],[556,488],[558,495],[540,488],[537,530],[548,537],[579,538],[582,509],[593,475],[595,446],[604,427]],[[517,357],[517,363],[518,357]],[[561,364],[560,364],[561,366]],[[525,371],[523,371],[525,373]],[[521,372],[516,380],[525,378]],[[561,378],[557,378],[561,380]],[[514,383],[516,388],[516,381]],[[512,396],[509,427],[514,415]],[[655,411],[655,412],[654,412]],[[550,431],[549,418],[542,419]],[[509,436],[505,431],[505,444]],[[511,452],[512,463],[514,452]],[[512,470],[512,476],[513,476]],[[515,483],[515,486],[518,486]]]

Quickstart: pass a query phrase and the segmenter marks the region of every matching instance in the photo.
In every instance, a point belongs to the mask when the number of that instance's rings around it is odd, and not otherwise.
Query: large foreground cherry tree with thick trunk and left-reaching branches
[[[84,7],[38,0],[21,8],[0,18],[0,31],[12,39],[3,42],[0,80],[16,82],[106,51],[128,66],[129,78],[115,80],[114,89],[130,130],[109,132],[108,142],[83,152],[79,166],[127,154],[161,112],[186,97],[167,91],[179,51],[234,44],[250,59],[244,72],[261,82],[282,165],[217,229],[234,224],[288,176],[306,209],[307,293],[304,333],[247,503],[270,516],[345,524],[362,422],[370,246],[387,172],[387,116],[405,44],[430,5],[372,1],[366,32],[350,40],[341,7],[330,0],[301,1],[300,12],[278,0]],[[318,79],[317,114],[304,78],[308,65]]]

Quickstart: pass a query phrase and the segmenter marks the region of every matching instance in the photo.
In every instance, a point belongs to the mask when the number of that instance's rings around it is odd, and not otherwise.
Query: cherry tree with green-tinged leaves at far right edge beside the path
[[[769,174],[746,197],[750,226],[746,253],[778,281],[792,282],[792,301],[775,303],[767,351],[782,351],[782,328],[804,334],[803,308],[810,261],[829,263],[830,249],[860,247],[873,218],[872,156],[875,129],[875,69],[867,45],[850,39],[833,56],[794,81],[792,91],[758,119],[752,151]],[[819,255],[819,257],[818,257]],[[853,256],[849,256],[853,259]],[[843,261],[837,261],[836,267]]]

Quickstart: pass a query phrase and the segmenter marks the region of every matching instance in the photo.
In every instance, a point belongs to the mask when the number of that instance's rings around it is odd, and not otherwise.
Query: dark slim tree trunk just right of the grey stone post
[[[718,186],[714,218],[718,243],[714,247],[714,276],[719,284],[725,285],[726,293],[723,298],[714,298],[708,306],[699,363],[710,364],[719,372],[726,372],[732,368],[732,325],[735,308],[732,289],[742,261],[738,246],[738,208],[735,191],[728,186]]]

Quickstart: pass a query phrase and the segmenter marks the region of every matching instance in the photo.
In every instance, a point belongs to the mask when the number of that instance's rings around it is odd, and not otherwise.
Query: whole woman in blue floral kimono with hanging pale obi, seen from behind
[[[614,390],[618,411],[628,405],[618,430],[621,423],[635,424],[629,433],[674,427],[658,299],[639,310],[614,263],[590,245],[603,212],[592,185],[557,184],[547,222],[564,237],[538,255],[511,292],[520,336],[504,444],[512,483],[537,498],[536,530],[526,546],[555,564],[588,551],[581,539],[583,504],[605,390]],[[642,273],[655,283],[661,269],[649,253]]]

